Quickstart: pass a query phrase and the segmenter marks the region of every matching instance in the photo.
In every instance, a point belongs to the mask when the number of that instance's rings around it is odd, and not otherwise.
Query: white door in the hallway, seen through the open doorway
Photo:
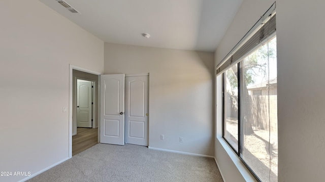
[[[92,127],[91,81],[77,81],[77,127]]]

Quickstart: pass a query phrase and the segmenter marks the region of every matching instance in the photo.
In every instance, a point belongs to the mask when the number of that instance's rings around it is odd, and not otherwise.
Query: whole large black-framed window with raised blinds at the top
[[[277,181],[275,4],[217,66],[223,138],[258,181]]]

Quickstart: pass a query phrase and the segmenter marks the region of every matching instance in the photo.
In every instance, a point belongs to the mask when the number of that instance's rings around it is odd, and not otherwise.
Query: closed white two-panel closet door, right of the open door
[[[125,77],[125,143],[148,146],[148,76]]]

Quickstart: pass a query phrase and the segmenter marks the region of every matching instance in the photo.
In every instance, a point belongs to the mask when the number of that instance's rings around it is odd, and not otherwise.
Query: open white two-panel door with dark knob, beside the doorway
[[[100,142],[124,145],[124,74],[101,75]]]

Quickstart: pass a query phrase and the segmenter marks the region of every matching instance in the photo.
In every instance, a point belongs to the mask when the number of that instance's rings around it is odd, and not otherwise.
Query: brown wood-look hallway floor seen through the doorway
[[[77,128],[77,134],[72,136],[72,156],[98,144],[98,128]]]

